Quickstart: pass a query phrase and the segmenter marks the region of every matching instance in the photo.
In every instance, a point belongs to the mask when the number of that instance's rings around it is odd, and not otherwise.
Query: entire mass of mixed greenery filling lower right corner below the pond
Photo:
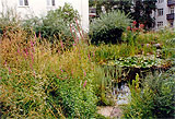
[[[173,118],[175,116],[175,70],[149,75],[142,83],[137,75],[130,86],[131,100],[124,108],[125,118]],[[142,88],[139,85],[142,85]]]

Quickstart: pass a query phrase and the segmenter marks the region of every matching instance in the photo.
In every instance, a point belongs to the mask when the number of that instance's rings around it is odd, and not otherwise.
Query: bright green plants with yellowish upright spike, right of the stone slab
[[[130,103],[124,107],[124,118],[153,118],[151,109],[153,108],[152,91],[149,88],[141,91],[139,87],[140,79],[137,74],[136,81],[130,85]]]

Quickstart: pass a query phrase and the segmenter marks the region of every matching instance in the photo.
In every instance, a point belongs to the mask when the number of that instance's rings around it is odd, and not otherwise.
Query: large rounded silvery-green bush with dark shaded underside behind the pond
[[[98,44],[120,41],[124,29],[130,24],[131,20],[120,11],[113,11],[101,14],[90,24],[91,41]]]

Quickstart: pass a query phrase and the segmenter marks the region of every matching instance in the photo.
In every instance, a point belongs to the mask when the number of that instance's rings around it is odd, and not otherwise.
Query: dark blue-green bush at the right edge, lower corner
[[[149,80],[152,79],[152,80]],[[159,74],[145,80],[145,86],[152,90],[154,108],[151,110],[158,118],[173,118],[175,116],[175,69],[165,74]]]

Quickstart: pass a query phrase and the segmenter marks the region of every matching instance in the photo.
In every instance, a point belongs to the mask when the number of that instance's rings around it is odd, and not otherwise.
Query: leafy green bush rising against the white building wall
[[[77,10],[66,3],[63,7],[59,7],[57,10],[51,10],[46,16],[42,19],[33,17],[24,21],[23,26],[25,29],[33,26],[37,35],[54,41],[54,38],[61,40],[72,40],[72,34],[70,32],[70,25],[75,28],[79,20],[79,14]],[[72,32],[77,31],[72,28]]]

